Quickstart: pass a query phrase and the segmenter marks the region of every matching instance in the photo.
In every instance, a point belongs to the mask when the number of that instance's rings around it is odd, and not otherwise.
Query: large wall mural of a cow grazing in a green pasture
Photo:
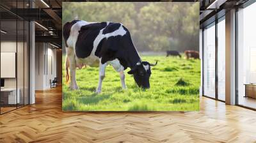
[[[63,3],[63,111],[199,110],[199,3]]]

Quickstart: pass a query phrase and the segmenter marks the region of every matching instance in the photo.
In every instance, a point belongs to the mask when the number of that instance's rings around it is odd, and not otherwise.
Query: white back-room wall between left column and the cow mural
[[[51,88],[50,79],[56,77],[56,49],[53,48],[49,43],[36,43],[36,90]]]

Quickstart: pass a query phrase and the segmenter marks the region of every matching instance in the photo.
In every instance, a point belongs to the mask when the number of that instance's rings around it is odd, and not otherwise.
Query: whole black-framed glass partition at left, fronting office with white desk
[[[8,4],[11,10],[28,7],[28,1],[0,1],[0,4]],[[6,17],[7,14],[10,16]],[[0,114],[3,114],[29,104],[29,22],[0,8],[0,30]]]

